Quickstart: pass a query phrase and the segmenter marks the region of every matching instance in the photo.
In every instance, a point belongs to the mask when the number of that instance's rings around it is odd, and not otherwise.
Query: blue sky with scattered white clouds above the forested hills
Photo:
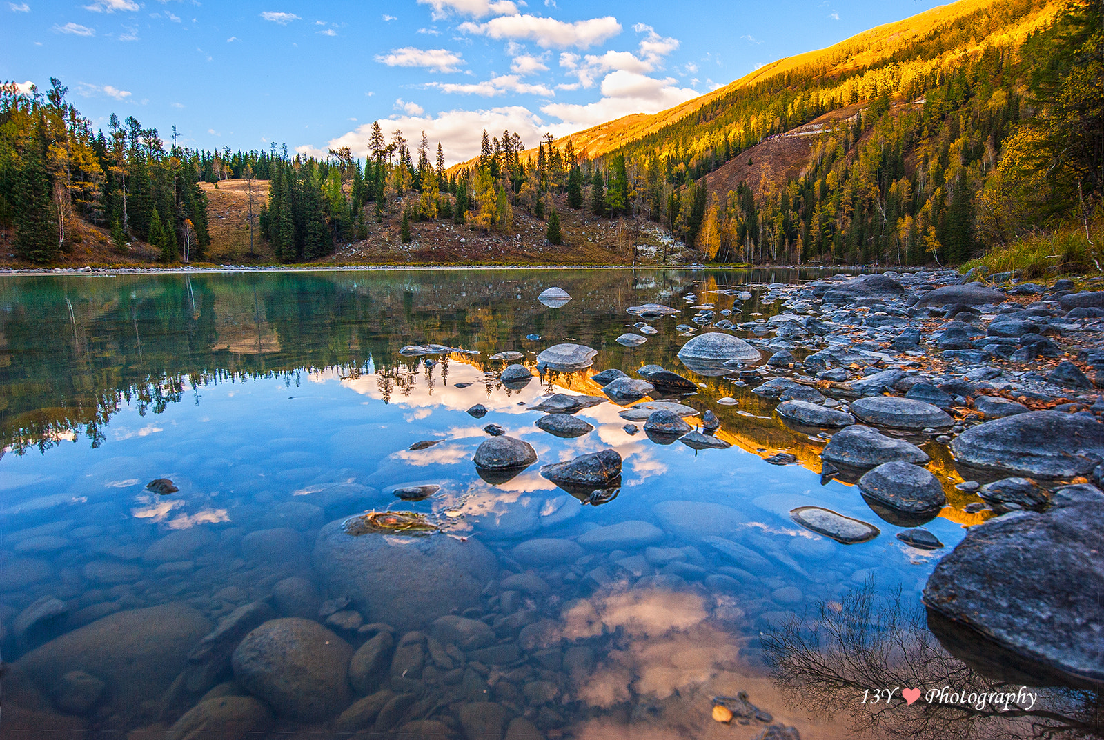
[[[205,149],[367,151],[368,127],[527,146],[656,112],[756,66],[922,12],[925,0],[20,0],[0,2],[0,79],[51,76],[97,127],[134,116]]]

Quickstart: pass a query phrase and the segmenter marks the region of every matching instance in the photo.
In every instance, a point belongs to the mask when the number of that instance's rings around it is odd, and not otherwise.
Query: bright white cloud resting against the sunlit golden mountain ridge
[[[550,103],[541,111],[560,119],[551,126],[563,136],[631,114],[654,114],[698,97],[689,87],[677,87],[673,77],[657,79],[617,69],[602,81],[602,98],[587,105]]]

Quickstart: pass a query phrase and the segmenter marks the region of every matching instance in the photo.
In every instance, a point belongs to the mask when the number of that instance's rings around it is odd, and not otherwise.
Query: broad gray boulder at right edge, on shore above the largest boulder
[[[970,427],[951,451],[959,464],[1013,475],[1087,475],[1104,460],[1104,425],[1075,414],[1030,411]]]

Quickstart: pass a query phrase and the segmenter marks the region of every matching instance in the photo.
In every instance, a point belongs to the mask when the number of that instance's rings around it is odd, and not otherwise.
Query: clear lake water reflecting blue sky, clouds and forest
[[[208,689],[234,678],[223,665],[181,688],[199,639],[258,600],[269,603],[270,616],[293,615],[286,579],[295,578],[306,581],[294,581],[306,594],[305,607],[297,602],[301,615],[326,622],[337,611],[328,629],[351,650],[383,629],[358,630],[361,622],[397,628],[396,656],[404,657],[383,665],[372,688],[413,698],[386,721],[384,711],[358,726],[364,729],[433,721],[439,725],[408,731],[444,728],[460,737],[498,722],[490,737],[509,727],[516,739],[538,737],[527,731],[750,738],[771,722],[752,718],[730,728],[710,717],[711,697],[746,690],[772,722],[805,738],[838,737],[848,722],[810,715],[807,701],[772,683],[764,645],[792,620],[816,626],[825,614],[861,609],[853,594],[863,585],[860,594],[880,600],[880,609],[912,614],[938,553],[900,541],[902,528],[882,521],[853,486],[821,484],[826,439],[816,430],[783,425],[774,403],[751,386],[700,377],[675,356],[686,341],[676,325],[694,313],[686,309],[732,305],[713,292],[719,288],[752,292],[731,317],[750,321],[782,308],[761,300],[765,283],[813,277],[819,275],[426,270],[4,279],[0,620],[3,657],[15,659],[4,693],[17,709],[0,728],[163,730]],[[562,308],[538,302],[553,285],[573,300]],[[690,293],[696,301],[683,300]],[[625,308],[647,302],[683,311],[649,322],[658,333],[645,344],[617,344],[637,322]],[[560,342],[596,348],[594,366],[510,389],[497,378],[506,363],[488,360],[519,351],[532,367],[537,353]],[[399,354],[427,343],[468,353]],[[682,403],[716,414],[718,437],[733,447],[696,451],[629,435],[613,403],[580,411],[594,430],[575,439],[533,425],[541,412],[529,407],[550,394],[601,395],[590,375],[633,374],[652,363],[699,384]],[[739,404],[719,405],[724,396]],[[475,404],[487,415],[467,414]],[[488,423],[529,442],[539,463],[507,482],[482,480],[471,457]],[[436,443],[411,449],[421,441]],[[609,448],[623,457],[624,473],[607,503],[581,504],[540,475],[541,464]],[[951,502],[925,526],[951,548],[963,525],[980,518],[962,511],[975,498],[954,489],[960,479],[945,448],[925,450]],[[796,463],[764,460],[779,451]],[[156,479],[179,491],[150,491]],[[425,484],[440,489],[421,502],[392,493]],[[789,512],[807,505],[869,522],[881,534],[838,544],[795,524]],[[385,573],[388,583],[350,586],[359,568],[335,572],[323,561],[328,550],[316,549],[325,539],[319,529],[386,508],[428,515],[445,533],[414,546],[450,537],[449,551],[458,555],[429,553],[455,564],[400,565]],[[726,551],[711,537],[728,540]],[[583,545],[555,561],[533,559],[526,544],[546,538]],[[394,539],[399,547],[406,538]],[[476,548],[490,558],[474,569],[480,593],[456,596],[448,588],[463,580],[456,564]],[[20,633],[17,618],[50,597],[61,602],[60,615]],[[341,597],[352,603],[317,611]],[[422,633],[438,634],[429,616],[449,612],[490,624],[495,644],[459,650],[427,641]],[[127,614],[136,618],[125,628],[96,629]],[[875,614],[882,626],[892,616]],[[454,648],[450,656],[443,647]],[[66,699],[83,679],[73,671],[104,686],[97,693],[92,684],[92,699]],[[246,694],[242,683],[220,690]],[[276,718],[265,714],[257,727],[337,731],[333,718],[363,693],[341,691],[349,696],[335,698],[325,716],[262,707]],[[853,710],[862,699],[861,690],[839,688],[818,700]],[[490,719],[465,709],[488,700],[502,707]],[[508,725],[518,717],[532,725]],[[954,732],[967,723],[948,721]]]

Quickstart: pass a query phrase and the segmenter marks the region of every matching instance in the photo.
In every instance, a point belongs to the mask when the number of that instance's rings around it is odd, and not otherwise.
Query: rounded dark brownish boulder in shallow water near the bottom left
[[[311,722],[349,704],[352,648],[318,622],[298,616],[270,620],[237,645],[234,678],[278,714]]]

